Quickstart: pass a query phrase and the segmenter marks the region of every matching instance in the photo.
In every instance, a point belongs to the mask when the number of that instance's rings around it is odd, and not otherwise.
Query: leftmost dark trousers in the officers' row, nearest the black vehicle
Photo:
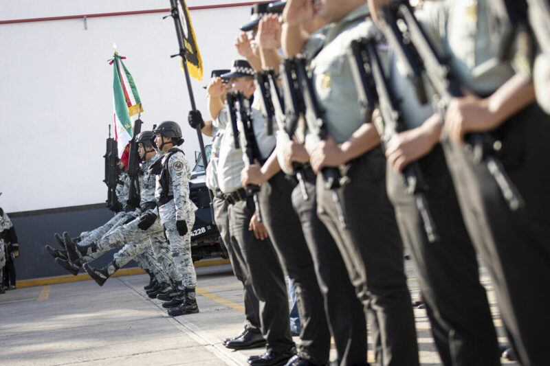
[[[222,198],[213,197],[212,207],[214,209],[214,218],[221,235],[221,241],[225,244],[225,249],[229,253],[231,260],[231,266],[233,273],[237,279],[243,284],[243,300],[245,304],[245,317],[248,327],[253,332],[261,332],[259,321],[259,306],[260,303],[254,295],[252,290],[252,284],[248,279],[248,272],[246,271],[246,263],[241,253],[239,245],[232,242],[229,231],[229,203]]]

